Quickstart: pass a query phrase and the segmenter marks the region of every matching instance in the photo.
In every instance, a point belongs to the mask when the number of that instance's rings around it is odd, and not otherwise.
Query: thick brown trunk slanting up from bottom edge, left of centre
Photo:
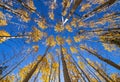
[[[27,74],[27,76],[25,77],[25,79],[23,79],[22,82],[28,82],[29,79],[32,77],[33,73],[36,71],[36,69],[38,68],[39,64],[41,63],[41,61],[44,59],[44,57],[47,55],[47,51],[50,47],[48,46],[44,55],[42,56],[42,58],[40,60],[37,61],[36,65],[34,65],[34,67],[30,70],[30,72]]]

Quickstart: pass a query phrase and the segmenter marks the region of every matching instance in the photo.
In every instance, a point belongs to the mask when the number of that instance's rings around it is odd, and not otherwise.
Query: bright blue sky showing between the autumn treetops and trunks
[[[37,11],[40,12],[40,15],[43,16],[47,23],[49,23],[50,25],[53,25],[55,26],[58,22],[61,22],[61,11],[62,11],[62,5],[61,5],[61,2],[62,0],[57,0],[57,8],[54,10],[54,14],[55,14],[55,21],[52,21],[50,20],[50,18],[48,17],[48,12],[50,11],[49,9],[49,5],[50,5],[50,2],[49,0],[34,0],[35,2],[35,6],[37,8]],[[49,2],[48,4],[46,4],[47,2]],[[85,3],[86,1],[83,1],[83,3]],[[113,5],[112,7],[108,8],[106,11],[103,11],[103,12],[100,12],[98,14],[96,14],[95,16],[85,20],[85,22],[89,22],[89,21],[96,21],[97,18],[101,18],[104,14],[106,13],[109,13],[109,12],[119,12],[120,11],[120,7],[119,7],[120,3],[118,2],[117,4]],[[97,5],[92,5],[91,9],[94,9]],[[19,7],[19,5],[17,5],[17,7]],[[75,11],[75,13],[77,13],[78,15],[80,15],[81,17],[83,16],[83,14],[85,13],[88,13],[90,10],[86,10],[85,12],[79,12],[81,8],[81,5],[77,8],[77,10]],[[0,11],[2,11],[3,13],[8,13],[7,11],[3,10],[0,8]],[[23,23],[23,22],[20,22],[19,21],[19,17],[11,14],[13,16],[13,19],[10,21],[10,22],[15,22],[15,23],[18,23],[20,25],[16,25],[16,24],[11,24],[11,23],[8,23],[7,26],[2,26],[0,27],[0,30],[6,30],[7,32],[9,32],[12,36],[15,36],[19,33],[22,33],[24,34],[24,32],[31,32],[32,30],[32,27],[33,26],[36,26],[38,29],[40,29],[38,27],[38,25],[33,22],[32,20],[29,21],[28,23]],[[36,17],[34,14],[31,15],[31,17]],[[71,19],[73,17],[77,17],[75,14],[73,14],[73,16],[70,18],[70,20],[68,21],[68,24],[70,23]],[[25,25],[26,28],[22,27],[21,25]],[[107,26],[108,24],[106,24],[105,26]],[[45,31],[48,33],[48,35],[53,35],[54,37],[56,37],[57,35],[59,36],[62,36],[64,37],[65,39],[70,37],[72,40],[74,39],[73,37],[75,35],[77,35],[77,32],[78,32],[78,29],[85,29],[85,30],[91,30],[91,28],[89,27],[78,27],[78,28],[73,28],[73,32],[70,33],[68,32],[67,30],[64,30],[64,32],[62,33],[57,33],[54,31],[54,27],[49,27],[48,26],[48,29],[46,30],[42,30],[40,29],[41,31]],[[23,39],[9,39],[9,40],[6,40],[5,42],[3,43],[0,43],[0,64],[2,62],[4,62],[5,60],[8,60],[10,59],[13,55],[15,55],[15,53],[19,54],[20,53],[20,50],[24,47],[25,49],[24,50],[27,50],[28,48],[32,48],[33,45],[39,45],[39,51],[37,53],[33,53],[32,55],[35,55],[35,58],[40,54],[40,55],[43,55],[44,54],[44,51],[46,49],[46,45],[45,45],[45,40],[41,40],[39,42],[31,42],[31,43],[26,43],[26,40],[25,38]],[[93,38],[94,40],[94,38]],[[96,39],[95,39],[96,40]],[[105,58],[110,58],[112,61],[114,61],[115,63],[117,64],[120,64],[120,49],[117,47],[117,50],[116,51],[112,51],[112,52],[108,52],[107,50],[104,49],[104,47],[102,46],[102,44],[100,42],[93,42],[93,41],[89,41],[89,40],[83,40],[79,43],[76,43],[76,45],[80,45],[80,44],[87,44],[89,47],[92,47],[93,49],[96,49],[98,50],[99,54]],[[70,45],[68,45],[67,43],[64,44],[64,47],[68,49],[69,53],[70,50],[69,50],[69,47]],[[53,47],[52,49],[49,50],[49,52],[52,52],[54,55],[55,55],[55,49],[56,48],[59,48],[59,46],[56,46],[56,47]],[[96,57],[90,55],[89,53],[87,52],[84,52],[84,51],[80,51],[83,56],[85,58],[89,58],[91,59],[92,61],[97,61],[97,62],[101,62],[99,59],[97,59]],[[118,56],[115,56],[116,54],[118,54]],[[73,54],[73,55],[76,55],[76,54]],[[33,58],[34,56],[30,56],[28,59],[26,59],[21,65],[20,65],[20,68],[27,65],[28,63],[32,62],[35,58]],[[6,65],[9,65],[8,69],[13,65],[15,64],[15,62],[19,62],[19,60],[21,59],[21,56],[18,57],[18,59],[14,59],[13,61],[9,62],[8,64]],[[77,60],[77,58],[75,57],[75,59]],[[103,62],[102,62],[103,63]],[[103,63],[105,64],[105,63]],[[107,72],[108,73],[114,73],[114,72],[117,72],[117,73],[120,73],[119,70],[107,65],[107,68],[109,69]],[[18,73],[18,69],[17,68],[13,73]]]

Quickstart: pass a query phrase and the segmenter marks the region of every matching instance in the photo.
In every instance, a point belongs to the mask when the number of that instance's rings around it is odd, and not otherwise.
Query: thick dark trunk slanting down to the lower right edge
[[[120,70],[120,66],[119,66],[119,65],[117,65],[116,63],[114,63],[113,61],[111,61],[111,60],[109,60],[109,59],[107,59],[107,58],[104,58],[104,57],[100,56],[97,52],[91,51],[91,50],[89,50],[89,49],[87,49],[87,48],[83,48],[83,47],[80,47],[80,48],[88,51],[88,52],[91,53],[92,55],[96,56],[98,59],[100,59],[100,60],[106,62],[107,64],[115,67],[116,69]]]

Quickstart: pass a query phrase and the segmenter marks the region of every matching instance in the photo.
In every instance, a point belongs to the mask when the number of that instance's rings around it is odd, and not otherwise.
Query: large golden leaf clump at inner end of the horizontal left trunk
[[[31,32],[31,38],[33,42],[38,42],[39,40],[42,39],[42,37],[43,37],[43,33],[36,27],[33,27],[33,32]]]

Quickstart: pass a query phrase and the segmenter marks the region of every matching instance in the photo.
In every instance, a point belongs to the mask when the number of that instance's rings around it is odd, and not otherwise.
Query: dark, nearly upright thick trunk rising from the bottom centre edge
[[[67,65],[64,60],[64,54],[62,52],[62,46],[61,46],[61,60],[62,60],[62,66],[63,66],[64,82],[71,82],[68,69],[67,69]]]

